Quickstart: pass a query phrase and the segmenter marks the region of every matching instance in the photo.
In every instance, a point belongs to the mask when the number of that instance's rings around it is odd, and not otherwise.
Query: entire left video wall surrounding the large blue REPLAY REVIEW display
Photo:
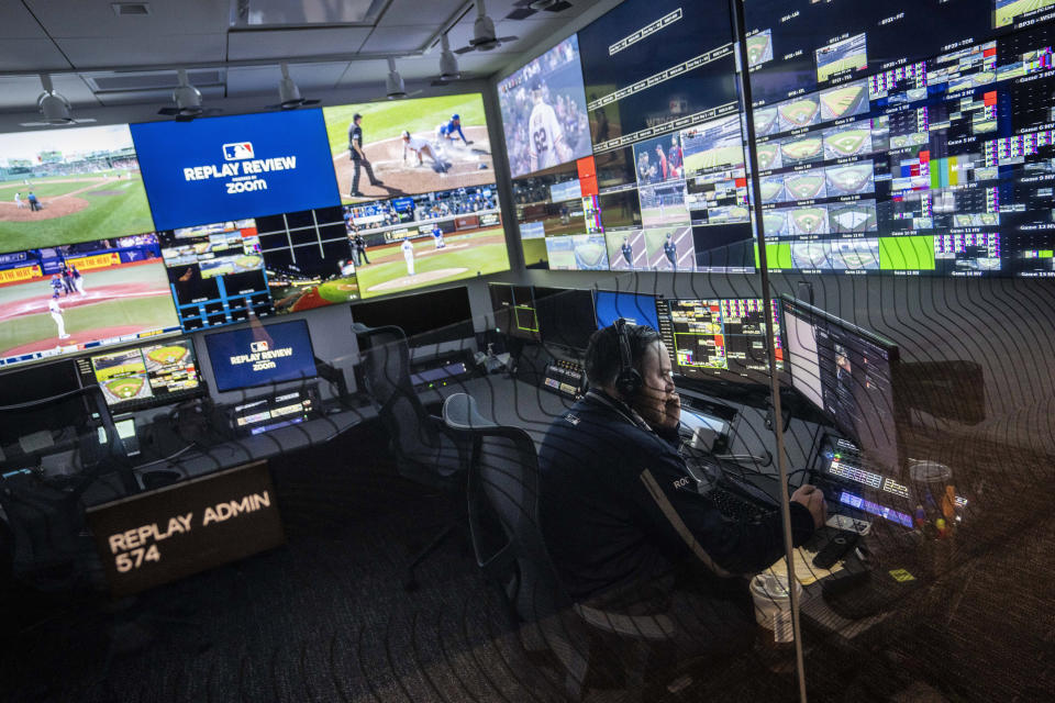
[[[479,94],[0,134],[0,368],[509,268]]]

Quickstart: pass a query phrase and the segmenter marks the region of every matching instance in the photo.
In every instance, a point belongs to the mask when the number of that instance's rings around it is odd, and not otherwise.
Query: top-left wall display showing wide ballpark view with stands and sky
[[[0,134],[0,252],[153,231],[129,125]]]

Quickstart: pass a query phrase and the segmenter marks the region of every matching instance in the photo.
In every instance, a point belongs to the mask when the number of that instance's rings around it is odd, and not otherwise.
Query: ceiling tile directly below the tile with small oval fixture
[[[56,40],[77,68],[179,66],[222,62],[224,36],[166,35],[124,37],[120,46],[96,38]]]

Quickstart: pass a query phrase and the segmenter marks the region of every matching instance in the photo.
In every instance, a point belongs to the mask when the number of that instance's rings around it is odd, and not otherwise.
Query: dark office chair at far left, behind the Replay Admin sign
[[[55,426],[45,425],[13,442],[3,442],[0,456],[7,468],[29,469],[9,471],[0,479],[0,509],[11,540],[11,571],[40,591],[65,592],[95,585],[101,565],[85,532],[81,498],[89,488],[112,498],[134,493],[138,490],[135,477],[123,461],[120,437],[97,386],[0,406],[0,426],[14,425],[22,432],[26,427],[19,417],[29,412],[55,419]],[[59,427],[66,417],[76,417],[79,424]],[[107,438],[101,445],[99,426]],[[31,436],[32,442],[27,440]],[[111,480],[114,478],[119,481]]]

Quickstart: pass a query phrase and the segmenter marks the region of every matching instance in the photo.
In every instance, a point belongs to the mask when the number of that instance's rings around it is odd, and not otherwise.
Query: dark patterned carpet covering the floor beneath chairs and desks
[[[116,603],[8,587],[4,701],[565,700],[548,662],[529,658],[467,547],[452,540],[406,593],[401,567],[452,510],[395,475],[377,427],[273,464],[288,545]],[[846,650],[809,641],[812,701],[1033,701],[1053,690],[1052,527],[979,555],[907,603],[876,639]],[[1045,604],[1047,603],[1047,604]],[[993,629],[993,623],[1000,623]],[[622,662],[608,666],[618,668]],[[649,701],[793,701],[796,684],[757,657]],[[641,700],[592,690],[589,702]]]

